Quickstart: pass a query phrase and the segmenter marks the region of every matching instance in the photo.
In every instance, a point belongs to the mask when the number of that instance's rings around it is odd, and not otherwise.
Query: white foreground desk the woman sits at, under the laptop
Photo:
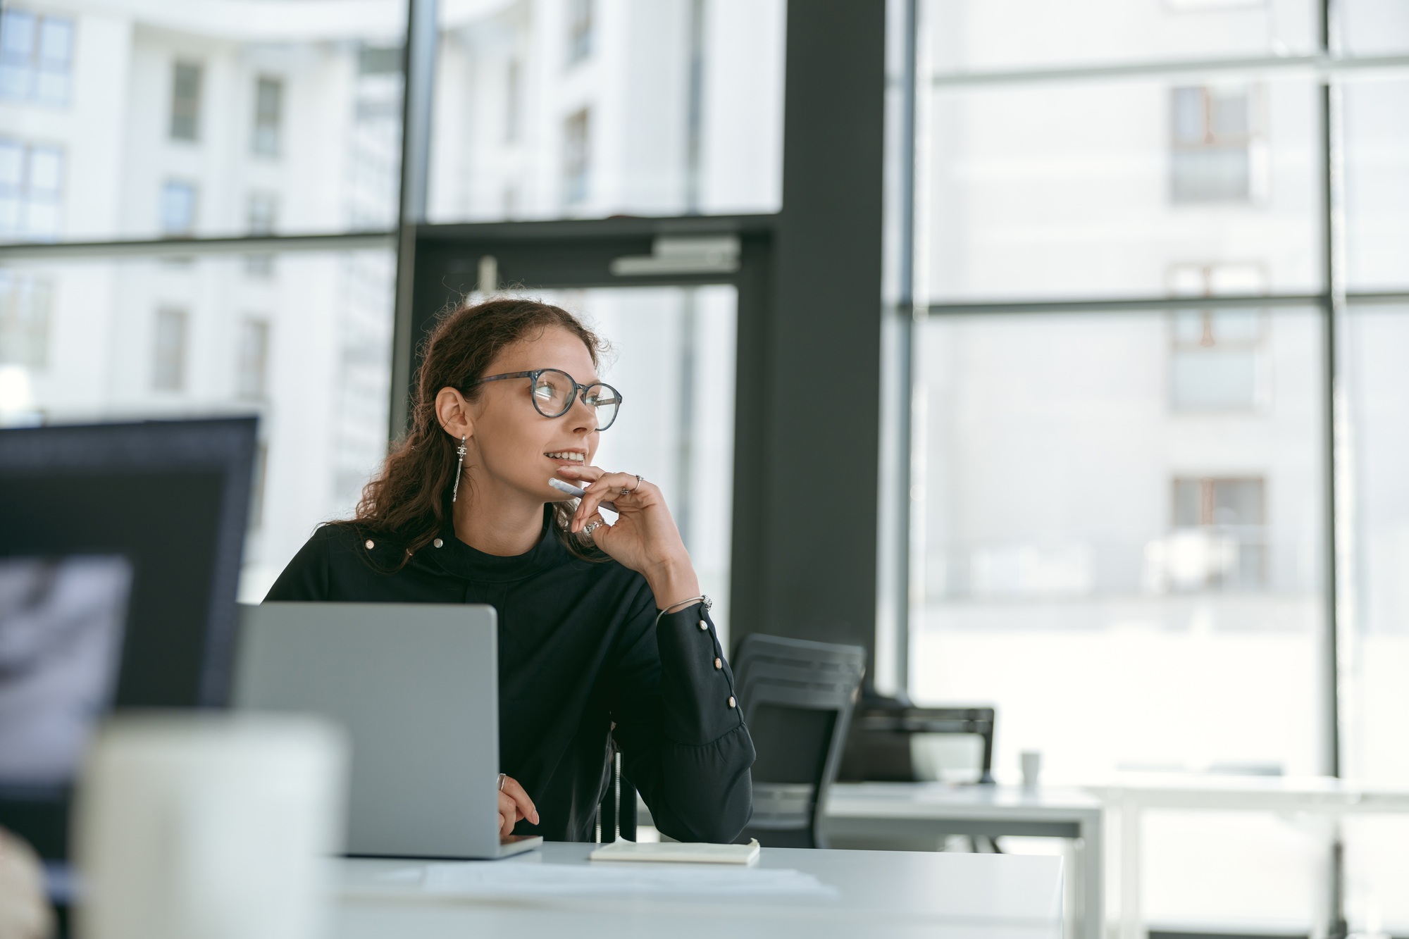
[[[593,845],[550,843],[541,852],[476,864],[586,864]],[[379,880],[417,867],[407,860],[344,860],[335,939],[764,939],[807,936],[941,936],[1061,939],[1062,880],[1055,857],[837,852],[765,847],[758,866],[813,874],[828,898],[661,895],[485,898],[433,895]]]

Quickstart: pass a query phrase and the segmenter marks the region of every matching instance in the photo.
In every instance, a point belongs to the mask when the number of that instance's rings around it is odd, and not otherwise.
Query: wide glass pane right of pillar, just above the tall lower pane
[[[1210,292],[1320,289],[1309,80],[1126,76],[931,100],[936,302],[1184,295],[1198,268],[1261,272]]]

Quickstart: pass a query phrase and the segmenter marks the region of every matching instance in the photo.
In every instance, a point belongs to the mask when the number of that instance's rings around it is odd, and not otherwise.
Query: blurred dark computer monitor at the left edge
[[[89,735],[223,706],[255,419],[0,430],[0,826],[68,853]]]

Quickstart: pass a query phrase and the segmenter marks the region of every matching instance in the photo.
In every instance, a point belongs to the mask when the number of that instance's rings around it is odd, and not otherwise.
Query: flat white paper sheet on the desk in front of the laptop
[[[797,870],[737,869],[714,864],[589,867],[586,864],[524,864],[440,861],[387,871],[387,885],[418,884],[442,897],[834,897],[837,888]]]

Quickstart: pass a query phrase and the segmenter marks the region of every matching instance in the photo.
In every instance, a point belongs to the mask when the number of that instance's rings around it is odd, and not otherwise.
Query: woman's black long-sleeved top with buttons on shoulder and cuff
[[[752,811],[754,744],[709,610],[695,603],[657,626],[645,578],[571,554],[548,512],[527,554],[485,554],[447,529],[395,572],[403,544],[328,524],[265,599],[489,603],[499,612],[499,768],[540,819],[520,821],[516,835],[590,840],[614,739],[661,832],[734,840]]]

